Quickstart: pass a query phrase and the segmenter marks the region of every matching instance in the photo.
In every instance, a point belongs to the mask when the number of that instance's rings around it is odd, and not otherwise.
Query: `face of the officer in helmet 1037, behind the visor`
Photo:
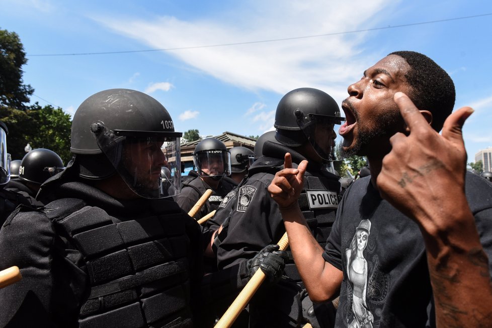
[[[124,146],[123,161],[136,187],[157,189],[160,170],[167,163],[162,142],[132,142]]]

